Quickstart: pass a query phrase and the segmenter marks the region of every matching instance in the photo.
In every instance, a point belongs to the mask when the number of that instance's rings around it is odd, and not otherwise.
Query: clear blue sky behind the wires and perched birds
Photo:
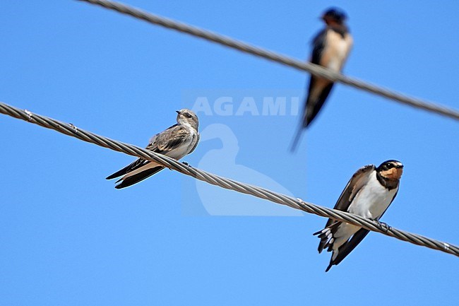
[[[340,6],[346,74],[459,109],[455,1],[128,4],[304,60],[318,16]],[[2,1],[0,26],[3,102],[145,146],[206,98],[191,165],[333,207],[359,167],[395,158],[382,220],[459,244],[452,119],[338,85],[292,155],[305,73],[78,1]],[[258,114],[237,113],[244,98]],[[263,115],[276,98],[285,114]],[[0,131],[0,305],[458,303],[453,255],[371,233],[325,273],[311,235],[324,218],[169,170],[117,190],[105,177],[131,156],[4,115]]]

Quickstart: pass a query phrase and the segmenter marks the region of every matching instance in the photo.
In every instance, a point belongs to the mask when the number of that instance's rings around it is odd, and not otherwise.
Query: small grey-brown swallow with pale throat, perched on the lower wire
[[[199,122],[198,116],[191,110],[184,108],[176,112],[177,124],[153,136],[146,149],[179,160],[185,155],[193,152],[198,145]],[[121,189],[141,182],[162,169],[164,169],[162,165],[151,162],[150,160],[138,158],[130,165],[109,175],[107,180],[112,180],[115,177],[124,175],[121,179],[117,180],[117,182],[121,183],[115,186],[115,188]]]

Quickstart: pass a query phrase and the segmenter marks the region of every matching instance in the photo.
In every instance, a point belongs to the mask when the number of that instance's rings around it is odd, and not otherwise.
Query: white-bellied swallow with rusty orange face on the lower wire
[[[361,167],[352,175],[334,208],[378,221],[395,199],[402,173],[403,165],[398,160],[386,160],[379,167]],[[314,233],[321,239],[319,253],[323,249],[333,251],[326,271],[345,259],[368,233],[359,226],[328,219],[325,228]]]

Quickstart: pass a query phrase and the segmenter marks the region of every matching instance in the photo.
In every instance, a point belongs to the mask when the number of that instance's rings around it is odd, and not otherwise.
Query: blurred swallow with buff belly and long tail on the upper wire
[[[347,16],[339,8],[329,8],[321,19],[326,28],[321,30],[312,42],[311,63],[321,65],[339,73],[345,64],[350,49],[352,36],[345,24]],[[333,88],[333,82],[311,74],[306,101],[304,103],[302,122],[292,143],[292,151],[297,146],[299,136],[314,120]]]

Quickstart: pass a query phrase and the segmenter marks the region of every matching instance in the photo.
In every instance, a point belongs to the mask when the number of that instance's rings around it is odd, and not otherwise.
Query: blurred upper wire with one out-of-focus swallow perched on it
[[[118,11],[119,13],[124,13],[134,18],[145,20],[148,23],[153,23],[155,25],[161,25],[162,27],[169,28],[172,30],[177,30],[181,33],[187,33],[189,35],[201,37],[205,40],[215,42],[220,45],[225,45],[232,49],[237,49],[241,52],[249,53],[257,57],[263,57],[264,59],[275,61],[279,64],[290,66],[290,67],[293,67],[301,71],[307,71],[316,76],[327,78],[330,81],[340,82],[340,83],[352,86],[354,88],[365,90],[369,93],[380,95],[384,98],[395,100],[405,105],[410,105],[412,107],[417,107],[422,110],[427,110],[428,112],[434,112],[436,114],[440,114],[446,117],[450,117],[450,118],[459,120],[458,110],[453,110],[448,107],[444,107],[443,105],[436,105],[432,102],[427,102],[427,101],[420,100],[417,98],[412,98],[402,93],[397,93],[393,90],[383,88],[381,86],[376,86],[371,83],[360,81],[357,78],[350,78],[348,76],[342,75],[341,73],[335,73],[333,71],[325,69],[322,66],[318,66],[316,64],[311,64],[308,62],[299,61],[297,59],[292,59],[290,57],[286,57],[285,55],[277,54],[275,52],[271,52],[266,49],[256,47],[254,45],[249,45],[245,42],[234,40],[224,35],[213,33],[208,30],[203,30],[201,28],[196,28],[192,25],[180,23],[178,21],[175,21],[169,18],[165,18],[162,16],[157,16],[152,13],[147,13],[145,11],[141,11],[138,8],[126,6],[119,2],[107,1],[107,0],[78,0],[78,1],[84,1],[90,4],[96,4],[98,6],[102,6],[104,8],[109,8],[114,11]]]

